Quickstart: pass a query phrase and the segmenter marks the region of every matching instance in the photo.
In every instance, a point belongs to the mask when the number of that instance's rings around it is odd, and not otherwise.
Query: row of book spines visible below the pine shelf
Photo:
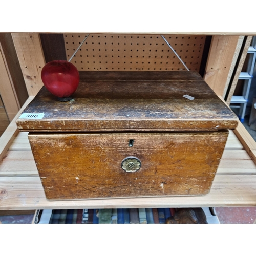
[[[162,224],[174,208],[53,210],[51,224]]]

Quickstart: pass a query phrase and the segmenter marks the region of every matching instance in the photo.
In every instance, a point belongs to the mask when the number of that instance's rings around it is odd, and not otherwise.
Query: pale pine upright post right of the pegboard
[[[219,96],[224,97],[226,94],[243,38],[243,36],[212,37],[204,79]]]

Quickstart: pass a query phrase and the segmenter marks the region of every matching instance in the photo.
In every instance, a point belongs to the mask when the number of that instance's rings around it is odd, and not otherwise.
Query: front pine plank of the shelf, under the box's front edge
[[[208,195],[47,201],[39,177],[1,178],[1,210],[256,206],[256,175],[218,175]]]

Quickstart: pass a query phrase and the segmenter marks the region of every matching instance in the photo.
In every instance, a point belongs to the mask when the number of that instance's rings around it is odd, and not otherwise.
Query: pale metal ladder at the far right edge
[[[239,75],[240,80],[244,81],[243,93],[241,96],[232,96],[230,101],[230,108],[239,108],[238,117],[240,121],[244,122],[245,110],[248,102],[251,80],[253,78],[253,70],[256,60],[256,36],[253,36],[252,46],[249,47],[247,54],[250,54],[246,72],[241,72]],[[240,104],[240,105],[232,105]]]

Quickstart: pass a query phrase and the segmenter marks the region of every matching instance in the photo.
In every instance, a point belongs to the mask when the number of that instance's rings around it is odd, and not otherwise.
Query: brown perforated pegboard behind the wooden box
[[[87,34],[63,34],[67,60]],[[186,66],[199,72],[206,36],[164,35]],[[71,61],[79,71],[186,70],[161,35],[93,34]]]

